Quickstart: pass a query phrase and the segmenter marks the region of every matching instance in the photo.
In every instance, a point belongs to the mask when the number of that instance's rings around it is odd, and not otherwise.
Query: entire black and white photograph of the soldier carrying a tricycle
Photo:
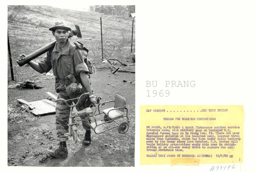
[[[135,5],[8,5],[8,166],[135,166]]]

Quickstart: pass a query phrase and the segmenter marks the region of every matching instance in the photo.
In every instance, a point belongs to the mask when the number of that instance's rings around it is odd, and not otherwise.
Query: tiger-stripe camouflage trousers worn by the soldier
[[[69,98],[66,90],[62,90],[59,92],[58,99],[69,100],[70,98]],[[76,105],[77,111],[83,110],[84,108],[90,106],[90,104],[91,104],[90,99],[85,104],[87,99],[89,99],[89,96],[83,96],[80,99],[79,104]],[[70,102],[68,102],[68,104],[71,105],[72,102],[70,101]],[[56,105],[56,123],[55,124],[56,124],[56,130],[57,130],[57,140],[59,142],[68,140],[68,136],[65,136],[64,134],[69,132],[69,126],[68,126],[69,115],[70,115],[70,107],[68,105],[66,105],[65,102],[58,101],[57,105]],[[81,116],[80,118],[82,120],[86,119],[85,116]],[[84,129],[86,129],[86,130],[91,129],[90,125],[86,124],[85,121],[82,121],[82,124],[83,124]]]

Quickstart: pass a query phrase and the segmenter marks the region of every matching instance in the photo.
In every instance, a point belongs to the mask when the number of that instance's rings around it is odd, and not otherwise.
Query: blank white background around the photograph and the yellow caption
[[[5,2],[6,3],[6,2]],[[35,3],[35,2],[32,2]],[[31,5],[22,1],[20,5]],[[44,4],[49,5],[48,1]],[[71,1],[61,1],[69,5]],[[72,2],[73,3],[73,2]],[[139,166],[139,105],[244,105],[246,168],[255,164],[255,47],[254,1],[77,1],[82,5],[136,5],[136,146],[130,168],[7,167],[7,92],[3,83],[1,166],[9,171],[209,171],[212,165]],[[8,5],[17,5],[9,3]],[[35,4],[43,5],[43,4]],[[1,7],[4,32],[1,52],[7,69],[7,4]],[[6,78],[4,79],[6,81]],[[168,97],[146,97],[146,81],[158,81]],[[195,81],[195,87],[164,87],[165,81]],[[150,88],[154,90],[155,88]],[[154,120],[154,119],[152,119]],[[124,155],[125,156],[125,155]],[[228,171],[231,171],[229,169]],[[219,171],[219,170],[218,170]]]

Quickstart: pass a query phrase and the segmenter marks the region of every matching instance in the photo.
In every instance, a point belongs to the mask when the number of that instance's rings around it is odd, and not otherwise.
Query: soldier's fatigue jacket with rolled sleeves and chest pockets
[[[81,83],[80,72],[89,73],[86,63],[80,49],[76,48],[74,54],[70,54],[69,49],[72,45],[70,40],[67,39],[67,44],[60,50],[57,43],[53,50],[47,52],[45,58],[39,62],[42,67],[40,73],[49,72],[53,68],[53,75],[55,76],[55,91],[58,93],[60,90],[65,90],[65,77],[71,73],[71,60],[75,69],[74,75]],[[82,83],[81,83],[82,84]]]

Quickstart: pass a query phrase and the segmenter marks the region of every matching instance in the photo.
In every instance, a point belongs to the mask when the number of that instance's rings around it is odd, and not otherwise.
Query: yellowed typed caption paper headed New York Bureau
[[[243,105],[140,105],[140,165],[242,163],[243,129]]]

